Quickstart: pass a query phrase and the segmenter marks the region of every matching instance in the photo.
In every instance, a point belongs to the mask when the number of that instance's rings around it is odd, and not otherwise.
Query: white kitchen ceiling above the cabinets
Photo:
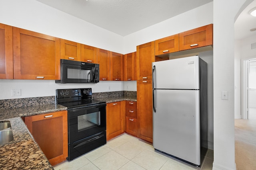
[[[37,0],[125,36],[212,0]]]

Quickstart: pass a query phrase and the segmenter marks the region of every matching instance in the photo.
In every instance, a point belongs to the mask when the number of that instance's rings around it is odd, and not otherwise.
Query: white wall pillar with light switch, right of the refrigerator
[[[214,0],[214,170],[235,169],[234,21],[252,0]],[[221,91],[228,100],[221,100]]]

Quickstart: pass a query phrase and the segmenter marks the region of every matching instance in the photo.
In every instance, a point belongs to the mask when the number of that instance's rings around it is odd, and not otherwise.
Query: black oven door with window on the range
[[[68,109],[68,144],[106,131],[106,104]]]

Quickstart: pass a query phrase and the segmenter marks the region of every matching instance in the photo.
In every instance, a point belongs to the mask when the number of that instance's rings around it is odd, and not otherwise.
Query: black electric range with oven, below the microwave
[[[106,102],[92,99],[92,88],[57,89],[56,103],[68,107],[68,158],[106,144]]]

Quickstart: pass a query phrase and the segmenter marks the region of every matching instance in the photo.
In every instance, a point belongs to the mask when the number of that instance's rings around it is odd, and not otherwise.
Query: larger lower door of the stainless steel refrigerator
[[[199,90],[155,90],[153,146],[200,165]]]

